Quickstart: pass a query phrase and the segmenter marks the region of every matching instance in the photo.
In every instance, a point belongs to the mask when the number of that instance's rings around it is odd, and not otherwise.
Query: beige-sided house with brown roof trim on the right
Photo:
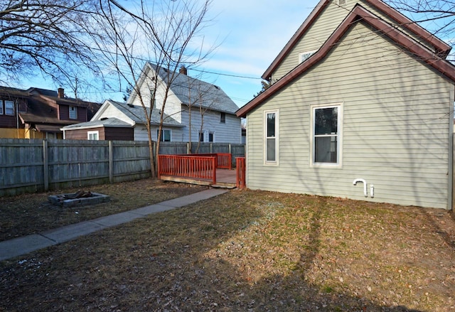
[[[452,209],[450,49],[382,1],[320,1],[237,111],[247,187]]]

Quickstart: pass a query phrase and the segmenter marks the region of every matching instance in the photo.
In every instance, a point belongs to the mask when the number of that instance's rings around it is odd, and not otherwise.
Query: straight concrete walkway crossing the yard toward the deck
[[[35,250],[60,244],[62,242],[68,242],[69,240],[74,240],[82,235],[88,235],[93,232],[104,230],[108,227],[121,225],[122,223],[136,220],[140,217],[145,217],[151,213],[160,213],[166,210],[181,208],[200,200],[213,198],[227,192],[228,190],[221,188],[210,188],[208,190],[186,195],[181,198],[166,200],[155,205],[129,210],[124,213],[107,215],[106,217],[99,217],[94,220],[67,225],[65,227],[48,230],[39,234],[17,237],[13,240],[5,240],[0,242],[0,261],[18,257],[22,254],[28,254],[28,252],[34,252]]]

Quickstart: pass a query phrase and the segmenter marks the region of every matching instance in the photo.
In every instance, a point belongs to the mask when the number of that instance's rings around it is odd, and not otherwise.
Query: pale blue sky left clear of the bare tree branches
[[[213,0],[208,11],[210,24],[201,34],[205,37],[205,43],[219,46],[197,70],[216,74],[205,72],[201,75],[200,71],[189,70],[188,75],[218,85],[237,106],[242,107],[259,92],[262,73],[318,2]],[[36,77],[23,81],[22,85],[16,87],[56,90],[60,86],[53,85],[53,82],[44,80],[43,77]],[[70,97],[74,96],[69,87],[65,88],[65,93]],[[122,100],[122,92],[101,95],[82,93],[80,96],[97,102],[107,98]]]

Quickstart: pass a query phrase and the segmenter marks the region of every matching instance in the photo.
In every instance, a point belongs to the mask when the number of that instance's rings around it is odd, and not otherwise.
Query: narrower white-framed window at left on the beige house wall
[[[264,162],[278,164],[279,111],[264,112]]]

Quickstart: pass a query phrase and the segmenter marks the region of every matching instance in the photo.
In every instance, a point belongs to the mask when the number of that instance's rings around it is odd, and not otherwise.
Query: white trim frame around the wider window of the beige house
[[[338,141],[336,163],[314,162],[314,111],[315,109],[338,107]],[[310,105],[310,167],[314,168],[343,168],[343,102],[333,104]]]

